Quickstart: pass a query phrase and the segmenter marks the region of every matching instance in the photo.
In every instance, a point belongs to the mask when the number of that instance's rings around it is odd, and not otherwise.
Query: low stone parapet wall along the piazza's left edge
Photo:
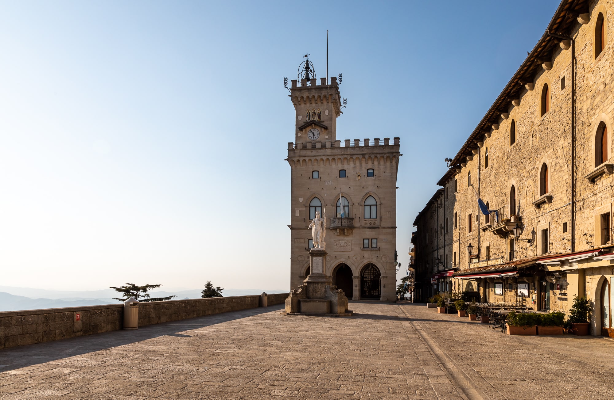
[[[268,306],[282,304],[288,293],[268,294]],[[141,302],[139,326],[203,317],[258,307],[261,298],[230,296]],[[0,348],[49,342],[123,327],[123,304],[0,312]]]

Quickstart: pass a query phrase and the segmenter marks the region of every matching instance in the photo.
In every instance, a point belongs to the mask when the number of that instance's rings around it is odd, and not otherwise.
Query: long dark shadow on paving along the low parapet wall
[[[191,335],[180,333],[183,331],[206,328],[211,325],[252,317],[252,315],[274,312],[283,307],[284,304],[276,304],[270,307],[258,307],[257,309],[231,311],[207,315],[205,317],[141,326],[134,331],[111,331],[53,340],[52,342],[3,348],[0,350],[0,374],[18,368],[141,342],[142,340],[153,339],[154,337],[174,336],[178,338],[177,340],[181,340],[184,337],[192,337]]]

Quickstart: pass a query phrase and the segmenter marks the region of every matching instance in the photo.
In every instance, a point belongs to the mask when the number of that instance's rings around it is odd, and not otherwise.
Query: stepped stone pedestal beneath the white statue
[[[343,290],[337,290],[333,278],[326,274],[326,255],[324,248],[314,247],[309,251],[311,274],[286,299],[287,314],[352,315]]]

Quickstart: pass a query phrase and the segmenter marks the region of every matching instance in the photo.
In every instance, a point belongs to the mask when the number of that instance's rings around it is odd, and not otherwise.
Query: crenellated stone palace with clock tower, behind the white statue
[[[396,298],[396,185],[399,138],[337,139],[341,95],[335,77],[321,78],[305,61],[292,80],[295,142],[292,168],[290,286],[309,275],[309,223],[327,218],[326,273],[348,299]]]

